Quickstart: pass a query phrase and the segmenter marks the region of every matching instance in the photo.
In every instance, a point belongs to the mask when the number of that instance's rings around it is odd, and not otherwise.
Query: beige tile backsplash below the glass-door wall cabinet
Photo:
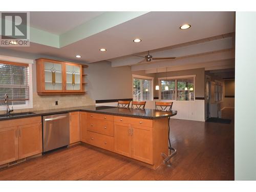
[[[58,105],[55,105],[55,101],[58,101]],[[75,106],[87,106],[95,105],[95,101],[92,100],[87,94],[83,95],[37,95],[33,93],[33,108],[15,110],[14,113],[27,112],[27,111],[38,111],[38,110],[49,110],[49,109],[60,109],[60,108],[71,108]],[[1,114],[6,111],[0,111]]]

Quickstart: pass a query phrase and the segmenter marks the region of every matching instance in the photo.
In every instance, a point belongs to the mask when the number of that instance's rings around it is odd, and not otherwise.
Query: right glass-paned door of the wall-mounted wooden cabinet
[[[82,90],[82,66],[66,64],[66,90],[81,91]]]

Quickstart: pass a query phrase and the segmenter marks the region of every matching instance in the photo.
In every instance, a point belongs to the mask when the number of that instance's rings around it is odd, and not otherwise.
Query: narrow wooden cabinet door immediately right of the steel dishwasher
[[[80,141],[80,116],[79,112],[72,112],[70,114],[70,143]]]

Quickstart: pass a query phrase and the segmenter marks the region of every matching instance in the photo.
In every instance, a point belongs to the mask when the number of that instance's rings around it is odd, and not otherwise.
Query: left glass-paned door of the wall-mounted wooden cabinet
[[[44,62],[45,90],[52,92],[63,91],[63,65],[53,61]]]

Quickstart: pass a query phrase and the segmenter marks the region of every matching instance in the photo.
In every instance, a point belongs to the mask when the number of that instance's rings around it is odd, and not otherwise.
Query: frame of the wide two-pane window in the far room
[[[194,78],[194,100],[189,101],[189,100],[177,100],[178,96],[178,88],[177,88],[177,81],[178,79],[185,79],[185,78]],[[165,100],[165,99],[161,99],[161,89],[162,89],[162,85],[161,85],[161,80],[175,80],[175,100],[174,99],[170,99],[170,100]],[[173,76],[173,77],[159,77],[158,78],[158,84],[159,84],[159,93],[158,93],[158,98],[161,101],[178,101],[178,102],[195,102],[196,100],[196,75],[183,75],[183,76]]]

